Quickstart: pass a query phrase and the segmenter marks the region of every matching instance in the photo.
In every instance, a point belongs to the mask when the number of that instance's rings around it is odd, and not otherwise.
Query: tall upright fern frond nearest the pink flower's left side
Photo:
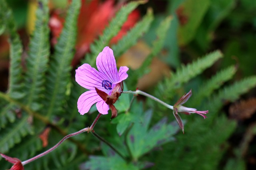
[[[73,0],[62,34],[55,45],[55,53],[50,57],[51,62],[46,78],[46,107],[47,116],[52,113],[58,113],[65,99],[65,92],[68,83],[70,83],[70,62],[74,55],[74,46],[76,44],[77,17],[81,2]]]

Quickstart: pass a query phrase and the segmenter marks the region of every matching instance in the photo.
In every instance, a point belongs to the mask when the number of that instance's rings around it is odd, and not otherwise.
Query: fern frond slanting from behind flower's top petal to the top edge
[[[86,56],[86,59],[82,63],[88,63],[92,67],[96,65],[96,57],[102,51],[102,49],[108,45],[110,40],[116,36],[120,31],[122,25],[127,20],[128,15],[139,5],[146,3],[145,0],[133,1],[125,6],[123,6],[116,14],[116,16],[111,20],[109,26],[104,30],[102,36],[99,37],[99,40],[96,40],[90,46],[91,54]]]

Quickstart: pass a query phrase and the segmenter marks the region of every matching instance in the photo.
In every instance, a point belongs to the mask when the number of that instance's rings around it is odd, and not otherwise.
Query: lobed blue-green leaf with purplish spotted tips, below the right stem
[[[146,111],[143,117],[142,123],[134,123],[127,135],[127,145],[135,161],[152,148],[174,140],[173,135],[179,129],[177,124],[173,126],[163,118],[148,130],[152,111]]]

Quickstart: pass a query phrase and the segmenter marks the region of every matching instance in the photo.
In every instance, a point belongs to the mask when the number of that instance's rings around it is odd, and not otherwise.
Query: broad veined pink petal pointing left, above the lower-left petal
[[[95,87],[97,87],[101,91],[107,92],[108,90],[102,87],[102,81],[106,79],[105,75],[89,64],[83,64],[76,69],[76,82],[86,89],[95,90]]]

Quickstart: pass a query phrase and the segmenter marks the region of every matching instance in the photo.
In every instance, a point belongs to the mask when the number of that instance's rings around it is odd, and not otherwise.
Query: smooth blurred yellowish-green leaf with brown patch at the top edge
[[[186,45],[193,40],[196,30],[202,22],[206,11],[210,6],[210,0],[186,0],[179,7],[182,16],[187,18],[187,23],[178,28],[178,40],[180,45]]]

